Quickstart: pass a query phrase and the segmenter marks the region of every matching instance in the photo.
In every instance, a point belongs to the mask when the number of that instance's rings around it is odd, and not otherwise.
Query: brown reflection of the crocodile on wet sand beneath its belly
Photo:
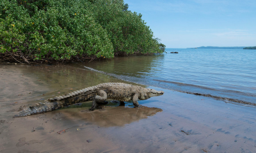
[[[81,109],[80,109],[81,110]],[[63,109],[63,114],[77,120],[86,120],[101,127],[124,126],[141,119],[147,119],[148,116],[156,115],[162,112],[161,108],[149,108],[141,106],[141,108],[129,108],[125,106],[116,106],[104,108],[104,110],[88,111],[82,110],[77,113],[77,109]],[[73,119],[72,119],[73,120]]]

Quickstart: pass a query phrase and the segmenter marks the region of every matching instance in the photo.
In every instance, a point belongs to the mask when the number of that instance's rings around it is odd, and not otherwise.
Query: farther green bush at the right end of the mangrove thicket
[[[102,0],[92,4],[95,20],[108,31],[116,55],[163,52],[141,14],[124,11],[123,1]]]

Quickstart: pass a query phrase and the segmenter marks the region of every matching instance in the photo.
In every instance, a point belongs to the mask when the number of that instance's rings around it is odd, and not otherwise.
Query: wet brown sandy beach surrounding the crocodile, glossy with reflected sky
[[[256,152],[256,108],[250,106],[152,87],[165,93],[139,101],[142,108],[109,103],[88,112],[87,102],[13,119],[20,106],[123,81],[61,65],[0,65],[0,78],[0,153]]]

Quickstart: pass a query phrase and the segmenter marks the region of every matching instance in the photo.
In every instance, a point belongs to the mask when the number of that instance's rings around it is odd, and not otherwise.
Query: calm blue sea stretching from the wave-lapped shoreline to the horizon
[[[256,103],[256,50],[167,48],[166,52],[77,66],[129,82]]]

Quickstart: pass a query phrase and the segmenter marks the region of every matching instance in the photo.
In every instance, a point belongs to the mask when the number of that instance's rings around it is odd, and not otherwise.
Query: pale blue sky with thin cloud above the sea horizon
[[[255,0],[124,0],[166,48],[256,46]]]

